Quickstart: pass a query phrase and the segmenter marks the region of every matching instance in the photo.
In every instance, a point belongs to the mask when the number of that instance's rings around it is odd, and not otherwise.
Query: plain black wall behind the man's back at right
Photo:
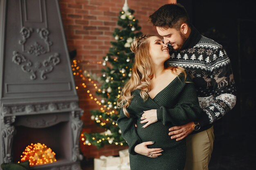
[[[233,148],[234,154],[244,153],[242,155],[256,151],[256,10],[252,2],[177,0],[187,9],[200,33],[222,44],[234,71],[237,102],[233,110],[214,124],[215,144],[221,141],[213,150],[216,157],[220,157],[221,152],[227,154],[229,151],[225,148]]]

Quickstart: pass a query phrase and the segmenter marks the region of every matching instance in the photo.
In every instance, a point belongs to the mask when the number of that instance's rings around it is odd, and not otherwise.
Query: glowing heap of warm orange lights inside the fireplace
[[[20,161],[23,162],[29,160],[30,166],[53,163],[52,158],[54,159],[54,162],[57,161],[55,159],[56,154],[52,151],[51,148],[47,148],[45,144],[31,144],[26,147],[25,151],[22,152],[22,154],[23,155],[20,156]]]

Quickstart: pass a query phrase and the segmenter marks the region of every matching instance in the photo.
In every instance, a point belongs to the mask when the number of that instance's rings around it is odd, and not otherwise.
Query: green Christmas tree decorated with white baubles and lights
[[[142,35],[139,31],[138,20],[135,19],[134,10],[129,9],[127,2],[120,11],[117,24],[121,29],[116,28],[113,37],[115,42],[106,56],[103,57],[101,91],[97,95],[101,97],[101,110],[91,110],[92,120],[105,129],[101,133],[84,133],[85,144],[94,145],[98,148],[106,144],[126,145],[121,137],[121,131],[117,125],[119,109],[117,99],[120,97],[122,85],[130,79],[134,54],[130,51],[130,45],[135,38]]]

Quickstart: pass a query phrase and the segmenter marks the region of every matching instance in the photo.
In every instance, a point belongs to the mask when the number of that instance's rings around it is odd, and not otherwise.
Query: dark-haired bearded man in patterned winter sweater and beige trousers
[[[213,122],[236,104],[229,57],[220,44],[200,35],[181,4],[160,7],[149,16],[149,21],[156,26],[164,43],[173,49],[168,63],[184,67],[193,78],[204,112],[196,122],[170,128],[169,135],[177,141],[187,136],[185,170],[208,170],[213,150]]]

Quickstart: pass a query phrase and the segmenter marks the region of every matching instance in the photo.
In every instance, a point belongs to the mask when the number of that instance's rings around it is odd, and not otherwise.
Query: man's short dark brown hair
[[[153,26],[180,29],[181,24],[189,25],[189,15],[182,4],[165,4],[149,16]]]

